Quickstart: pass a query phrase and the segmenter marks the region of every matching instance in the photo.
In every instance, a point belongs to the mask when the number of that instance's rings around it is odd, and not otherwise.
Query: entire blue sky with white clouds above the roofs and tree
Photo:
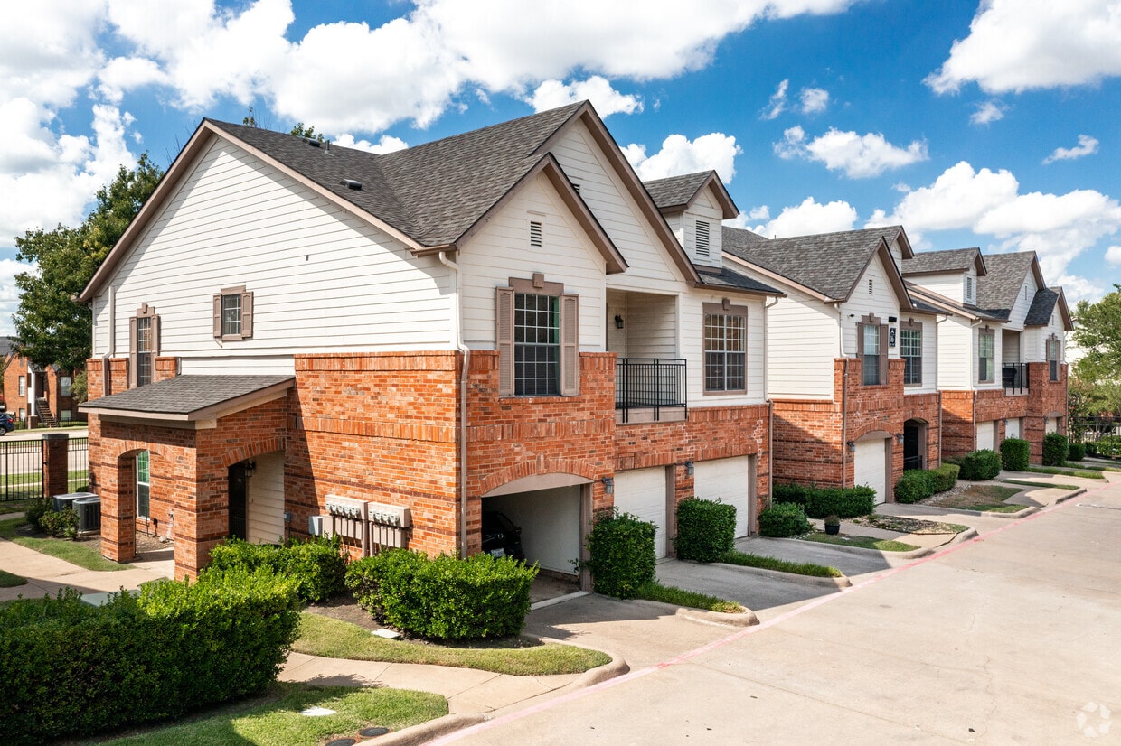
[[[413,146],[591,99],[642,178],[715,168],[735,224],[901,223],[1121,282],[1112,0],[38,0],[0,18],[0,334],[15,237],[75,225],[202,116]]]

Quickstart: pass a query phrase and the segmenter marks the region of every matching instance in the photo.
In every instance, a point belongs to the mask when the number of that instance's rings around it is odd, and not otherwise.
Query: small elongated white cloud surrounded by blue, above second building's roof
[[[860,136],[831,128],[809,142],[800,127],[791,127],[782,134],[782,142],[775,143],[775,152],[780,158],[816,160],[825,164],[831,171],[842,170],[854,179],[879,176],[889,168],[901,168],[927,159],[926,143],[916,140],[907,148],[898,148],[879,133]]]

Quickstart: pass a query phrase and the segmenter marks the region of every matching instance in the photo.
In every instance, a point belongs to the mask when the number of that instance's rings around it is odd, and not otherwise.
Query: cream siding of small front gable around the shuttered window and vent
[[[541,249],[529,246],[530,221],[543,224]],[[524,185],[462,246],[456,261],[469,346],[494,348],[494,288],[506,287],[511,277],[528,280],[541,272],[546,281],[563,283],[565,293],[580,296],[580,348],[604,349],[606,264],[545,176]]]

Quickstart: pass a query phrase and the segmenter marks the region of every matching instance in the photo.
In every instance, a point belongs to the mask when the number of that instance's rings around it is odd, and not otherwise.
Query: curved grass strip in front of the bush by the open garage
[[[599,651],[521,637],[458,644],[385,640],[356,624],[311,612],[300,615],[299,638],[293,650],[321,658],[451,665],[516,677],[583,673],[611,661]]]

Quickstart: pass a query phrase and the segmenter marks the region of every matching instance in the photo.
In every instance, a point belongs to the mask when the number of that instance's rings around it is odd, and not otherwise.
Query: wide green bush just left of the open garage
[[[405,633],[478,640],[521,632],[535,577],[536,565],[526,567],[511,557],[428,559],[420,552],[390,549],[351,562],[346,585],[363,608]]]

